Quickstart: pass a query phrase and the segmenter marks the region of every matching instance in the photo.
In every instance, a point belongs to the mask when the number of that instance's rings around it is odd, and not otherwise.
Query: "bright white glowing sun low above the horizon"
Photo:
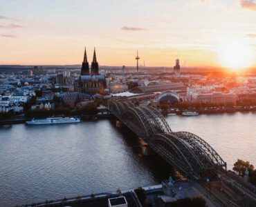
[[[241,70],[253,65],[253,49],[244,41],[226,41],[219,46],[221,65],[230,70]]]

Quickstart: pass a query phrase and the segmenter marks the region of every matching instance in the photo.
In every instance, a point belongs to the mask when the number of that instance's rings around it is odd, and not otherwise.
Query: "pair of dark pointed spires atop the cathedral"
[[[86,48],[84,48],[84,61],[82,62],[81,75],[90,75],[89,63],[87,61]],[[91,62],[91,75],[99,75],[99,67],[94,48],[93,61]]]

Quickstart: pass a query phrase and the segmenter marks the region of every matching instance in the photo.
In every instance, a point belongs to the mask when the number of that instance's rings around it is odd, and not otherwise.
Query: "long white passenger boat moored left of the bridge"
[[[29,125],[37,125],[37,124],[67,124],[67,123],[78,123],[80,122],[80,119],[75,118],[69,118],[69,117],[51,117],[47,119],[32,119],[31,121],[26,121],[26,124]]]

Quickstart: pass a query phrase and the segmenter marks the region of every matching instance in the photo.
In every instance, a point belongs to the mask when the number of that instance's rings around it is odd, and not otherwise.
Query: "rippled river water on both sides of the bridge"
[[[256,113],[166,117],[173,131],[192,132],[228,163],[256,166]],[[0,126],[0,206],[30,204],[118,188],[158,184],[172,170],[142,157],[137,137],[114,121],[55,126]]]

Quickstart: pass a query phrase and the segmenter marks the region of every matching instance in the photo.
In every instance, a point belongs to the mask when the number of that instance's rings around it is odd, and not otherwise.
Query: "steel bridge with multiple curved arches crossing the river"
[[[226,162],[203,139],[190,132],[172,132],[158,110],[134,106],[122,98],[109,100],[109,110],[182,175],[204,175],[226,168]]]

